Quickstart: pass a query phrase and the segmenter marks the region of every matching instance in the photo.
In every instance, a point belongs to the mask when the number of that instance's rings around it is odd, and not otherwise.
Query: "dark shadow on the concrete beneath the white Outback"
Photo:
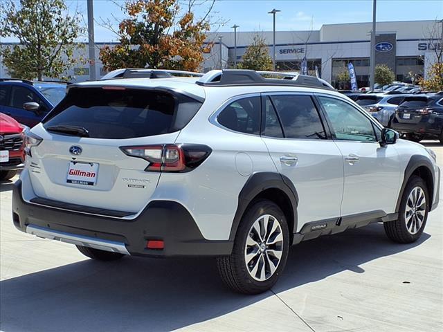
[[[390,242],[372,224],[291,248],[275,293],[351,270],[426,241]],[[30,264],[32,264],[30,262]],[[0,283],[1,330],[169,331],[210,320],[266,297],[231,293],[221,284],[214,259],[127,257],[86,260]]]

